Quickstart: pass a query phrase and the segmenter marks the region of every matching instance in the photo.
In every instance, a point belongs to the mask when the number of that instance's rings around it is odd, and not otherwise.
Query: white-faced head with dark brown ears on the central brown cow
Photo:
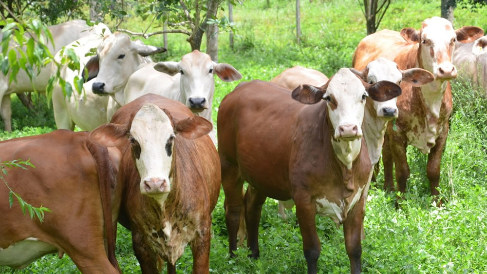
[[[349,141],[362,137],[367,96],[383,102],[399,94],[401,88],[392,82],[379,81],[370,85],[362,82],[349,69],[342,68],[321,87],[300,85],[292,92],[292,97],[305,104],[326,100],[335,139]]]

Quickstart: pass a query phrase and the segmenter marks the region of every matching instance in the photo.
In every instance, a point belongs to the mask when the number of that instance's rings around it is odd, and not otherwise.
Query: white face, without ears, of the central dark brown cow
[[[328,101],[336,139],[354,140],[362,136],[366,95],[362,82],[348,68],[340,69],[330,80],[323,98]]]

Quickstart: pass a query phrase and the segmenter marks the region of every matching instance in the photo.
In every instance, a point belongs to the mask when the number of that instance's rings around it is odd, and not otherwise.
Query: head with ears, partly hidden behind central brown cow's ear
[[[404,81],[417,87],[434,80],[434,76],[427,70],[420,68],[400,70],[395,62],[383,57],[370,62],[362,71],[353,68],[350,70],[369,84],[386,80],[400,85]],[[397,118],[399,110],[396,102],[397,97],[383,102],[374,100],[376,116],[385,120]]]

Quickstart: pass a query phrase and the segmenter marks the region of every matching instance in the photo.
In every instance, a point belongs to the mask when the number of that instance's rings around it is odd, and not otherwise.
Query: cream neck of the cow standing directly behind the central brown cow
[[[382,153],[387,122],[387,120],[377,117],[377,112],[374,109],[374,102],[371,98],[367,97],[362,131],[364,133],[365,143],[367,144],[367,150],[372,165],[375,165],[379,161]]]

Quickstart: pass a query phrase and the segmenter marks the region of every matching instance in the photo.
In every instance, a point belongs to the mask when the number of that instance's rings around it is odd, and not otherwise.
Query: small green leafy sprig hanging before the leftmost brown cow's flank
[[[2,179],[3,183],[7,186],[9,193],[8,193],[8,202],[10,205],[10,208],[12,208],[12,205],[14,204],[14,197],[17,198],[19,201],[20,209],[22,210],[22,213],[25,215],[27,212],[29,213],[31,219],[34,218],[34,216],[37,216],[39,221],[42,223],[44,221],[44,213],[45,212],[52,212],[49,208],[44,207],[40,205],[40,207],[35,207],[28,202],[26,202],[24,199],[22,199],[17,193],[15,193],[12,188],[9,186],[7,181],[3,176],[7,176],[7,168],[21,168],[21,169],[27,169],[27,167],[30,166],[32,168],[36,168],[30,160],[27,161],[22,161],[20,159],[18,160],[13,160],[13,161],[4,161],[0,162],[0,179]]]

